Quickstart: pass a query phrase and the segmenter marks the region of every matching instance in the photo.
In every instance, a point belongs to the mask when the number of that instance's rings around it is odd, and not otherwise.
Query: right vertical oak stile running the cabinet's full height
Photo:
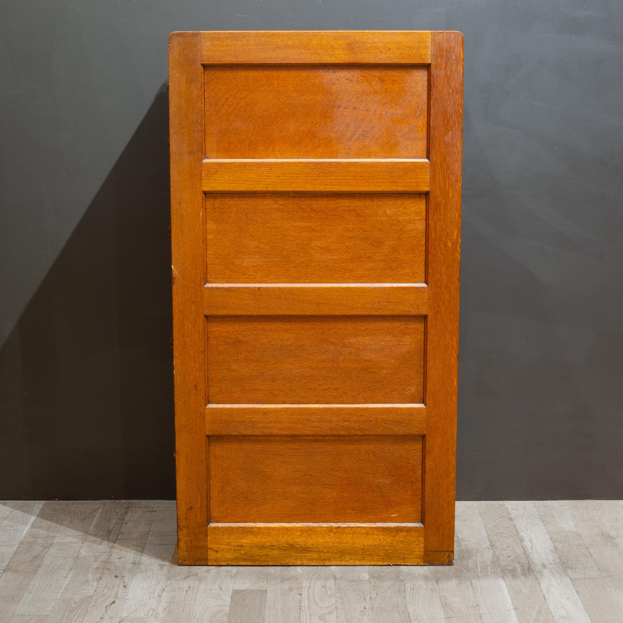
[[[431,37],[424,561],[442,564],[454,551],[463,36]]]

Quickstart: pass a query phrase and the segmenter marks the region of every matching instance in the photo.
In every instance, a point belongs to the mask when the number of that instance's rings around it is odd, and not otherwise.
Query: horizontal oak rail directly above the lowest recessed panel
[[[425,435],[423,404],[209,404],[206,435]]]

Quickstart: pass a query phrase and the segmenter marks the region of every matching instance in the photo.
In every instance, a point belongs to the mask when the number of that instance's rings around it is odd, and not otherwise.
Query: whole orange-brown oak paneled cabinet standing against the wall
[[[169,38],[181,564],[451,564],[463,39]]]

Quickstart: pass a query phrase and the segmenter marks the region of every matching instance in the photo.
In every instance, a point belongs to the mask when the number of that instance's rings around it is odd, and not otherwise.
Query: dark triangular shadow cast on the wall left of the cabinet
[[[174,498],[162,88],[0,351],[0,498]]]

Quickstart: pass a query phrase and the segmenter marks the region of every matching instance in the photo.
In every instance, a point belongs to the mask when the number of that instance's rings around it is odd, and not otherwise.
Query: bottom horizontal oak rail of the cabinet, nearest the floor
[[[422,526],[208,526],[210,564],[421,564]]]

